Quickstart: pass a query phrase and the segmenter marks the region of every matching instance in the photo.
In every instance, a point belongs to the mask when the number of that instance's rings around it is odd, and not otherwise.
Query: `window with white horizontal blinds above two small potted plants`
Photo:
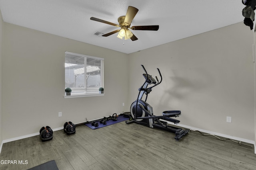
[[[72,95],[94,94],[103,87],[104,59],[65,52],[65,88]]]

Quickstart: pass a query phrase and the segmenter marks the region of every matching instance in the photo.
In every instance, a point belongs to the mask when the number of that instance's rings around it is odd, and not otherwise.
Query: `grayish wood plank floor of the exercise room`
[[[0,170],[26,170],[50,160],[60,170],[256,169],[253,147],[194,131],[175,141],[173,133],[125,122],[94,130],[80,125],[73,135],[55,131],[46,142],[38,135],[4,143],[0,160],[17,160],[0,164]]]

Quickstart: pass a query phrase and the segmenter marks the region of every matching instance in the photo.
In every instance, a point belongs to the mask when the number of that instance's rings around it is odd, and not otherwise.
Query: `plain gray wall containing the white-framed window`
[[[126,54],[10,23],[4,23],[3,42],[3,140],[126,110]],[[104,58],[105,96],[63,97],[65,51]]]

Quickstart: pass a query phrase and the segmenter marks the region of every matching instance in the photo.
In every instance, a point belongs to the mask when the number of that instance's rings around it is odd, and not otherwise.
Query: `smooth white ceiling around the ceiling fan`
[[[118,27],[90,17],[118,24],[128,6],[139,10],[131,26],[159,25],[158,31],[132,30],[136,41],[94,35]],[[0,0],[5,22],[127,54],[241,22],[244,7],[241,0]]]

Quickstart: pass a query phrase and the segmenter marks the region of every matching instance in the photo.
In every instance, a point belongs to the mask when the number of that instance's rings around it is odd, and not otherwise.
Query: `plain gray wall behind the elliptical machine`
[[[254,141],[252,44],[241,22],[132,53],[129,101],[144,81],[140,64],[152,75],[160,68],[163,82],[148,96],[155,115],[178,109],[182,125]]]

